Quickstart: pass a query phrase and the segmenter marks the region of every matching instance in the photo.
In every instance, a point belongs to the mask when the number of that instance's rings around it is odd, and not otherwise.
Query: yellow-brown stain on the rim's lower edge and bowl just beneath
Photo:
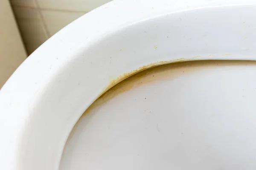
[[[105,89],[105,92],[99,96],[99,98],[90,105],[89,108],[84,112],[83,116],[90,113],[92,109],[107,103],[113,97],[129,91],[133,88],[140,87],[147,83],[154,83],[163,79],[169,79],[170,75],[172,78],[183,76],[186,74],[193,74],[195,72],[204,69],[204,65],[209,67],[227,66],[227,65],[240,65],[240,64],[255,64],[253,61],[231,61],[231,60],[204,60],[204,61],[189,61],[189,62],[157,62],[154,64],[145,65],[134,71],[123,74],[122,76],[113,79],[110,85]],[[161,66],[159,66],[161,65]],[[159,66],[159,67],[156,67]],[[146,70],[146,71],[145,71]],[[175,71],[175,74],[173,74]]]

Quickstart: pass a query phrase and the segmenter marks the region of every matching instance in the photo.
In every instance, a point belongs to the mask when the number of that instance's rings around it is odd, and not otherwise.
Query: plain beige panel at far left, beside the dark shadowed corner
[[[26,56],[9,1],[0,0],[0,89]]]

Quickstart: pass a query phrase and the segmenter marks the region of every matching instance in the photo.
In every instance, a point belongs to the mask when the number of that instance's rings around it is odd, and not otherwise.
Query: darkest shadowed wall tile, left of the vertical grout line
[[[39,10],[23,7],[14,7],[13,10],[26,50],[31,54],[49,38]]]

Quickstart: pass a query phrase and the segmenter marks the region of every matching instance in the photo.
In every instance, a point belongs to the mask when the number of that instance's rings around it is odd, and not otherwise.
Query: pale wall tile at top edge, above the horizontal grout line
[[[40,8],[91,11],[111,0],[37,0]]]

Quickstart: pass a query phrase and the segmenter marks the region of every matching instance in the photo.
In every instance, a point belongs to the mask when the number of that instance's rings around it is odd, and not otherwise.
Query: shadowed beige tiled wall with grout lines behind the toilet
[[[28,54],[61,28],[111,0],[10,0]]]

